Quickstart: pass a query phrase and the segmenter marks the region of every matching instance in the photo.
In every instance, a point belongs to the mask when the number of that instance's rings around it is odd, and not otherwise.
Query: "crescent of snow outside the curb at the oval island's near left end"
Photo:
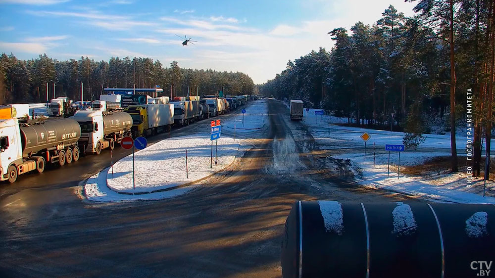
[[[126,202],[138,200],[160,200],[183,195],[196,189],[196,186],[187,186],[169,191],[156,192],[151,194],[128,195],[119,194],[106,186],[106,175],[110,168],[106,168],[98,174],[92,176],[83,186],[84,197],[94,202]]]

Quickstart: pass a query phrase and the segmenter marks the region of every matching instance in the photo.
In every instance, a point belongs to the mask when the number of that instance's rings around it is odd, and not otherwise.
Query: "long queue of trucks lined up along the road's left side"
[[[113,150],[124,137],[155,135],[172,125],[217,116],[244,104],[249,95],[199,99],[198,96],[148,98],[144,95],[101,95],[92,110],[63,118],[71,101],[52,99],[48,112],[55,119],[29,119],[28,104],[0,106],[0,181],[14,183],[19,175],[43,173],[47,164],[63,166],[86,153]],[[124,104],[125,103],[125,104]],[[125,107],[124,107],[125,106]],[[27,109],[24,109],[27,108]]]

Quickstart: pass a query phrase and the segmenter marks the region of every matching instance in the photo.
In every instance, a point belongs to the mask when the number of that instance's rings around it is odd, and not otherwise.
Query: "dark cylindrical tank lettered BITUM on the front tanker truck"
[[[20,131],[23,155],[75,143],[81,137],[81,127],[74,119],[54,119],[21,126]]]

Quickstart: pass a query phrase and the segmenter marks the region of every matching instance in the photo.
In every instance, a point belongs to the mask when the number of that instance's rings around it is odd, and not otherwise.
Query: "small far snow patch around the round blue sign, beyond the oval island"
[[[259,132],[260,129],[268,126],[268,104],[265,99],[255,100],[251,105],[242,108],[246,109],[244,123],[243,114],[238,110],[234,117],[222,120],[222,128],[225,131],[233,133],[235,129],[236,134],[244,135]]]

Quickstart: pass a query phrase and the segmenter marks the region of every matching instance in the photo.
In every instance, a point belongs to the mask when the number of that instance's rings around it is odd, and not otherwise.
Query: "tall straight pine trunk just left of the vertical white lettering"
[[[455,145],[455,56],[454,56],[454,0],[449,0],[449,43],[450,43],[450,152],[452,172],[458,172],[457,148]]]

